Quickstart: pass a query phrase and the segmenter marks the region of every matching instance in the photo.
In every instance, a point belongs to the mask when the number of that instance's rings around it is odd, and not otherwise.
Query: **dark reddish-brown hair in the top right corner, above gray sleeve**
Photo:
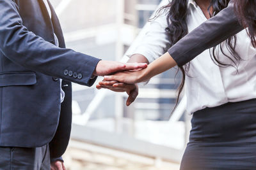
[[[248,27],[248,35],[252,40],[252,45],[256,48],[256,1],[235,0],[235,11],[241,24]]]

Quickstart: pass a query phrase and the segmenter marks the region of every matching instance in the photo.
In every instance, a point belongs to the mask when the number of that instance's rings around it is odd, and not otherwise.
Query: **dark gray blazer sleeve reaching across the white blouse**
[[[243,29],[234,11],[234,1],[230,1],[227,8],[180,39],[168,52],[178,66],[183,66],[204,50],[220,44]]]

